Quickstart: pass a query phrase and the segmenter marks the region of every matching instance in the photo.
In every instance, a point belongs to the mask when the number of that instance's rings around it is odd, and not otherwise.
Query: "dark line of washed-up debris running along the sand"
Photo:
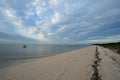
[[[94,60],[94,62],[92,64],[94,72],[93,72],[92,77],[90,78],[90,80],[101,80],[99,70],[98,70],[98,67],[100,65],[100,61],[101,61],[101,58],[99,57],[98,47],[96,47],[95,60]]]

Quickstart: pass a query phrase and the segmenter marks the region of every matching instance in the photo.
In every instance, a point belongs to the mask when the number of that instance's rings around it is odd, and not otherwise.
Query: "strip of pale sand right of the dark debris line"
[[[102,80],[120,80],[120,55],[106,49],[99,47],[101,63],[99,73]]]

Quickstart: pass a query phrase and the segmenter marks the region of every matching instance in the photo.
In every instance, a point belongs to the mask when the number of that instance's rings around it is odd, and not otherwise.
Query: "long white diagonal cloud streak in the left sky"
[[[35,27],[29,26],[26,27],[26,24],[23,22],[22,18],[17,15],[17,12],[12,8],[6,8],[2,10],[4,14],[4,18],[9,23],[12,23],[14,27],[17,29],[17,33],[22,35],[33,35],[36,31]]]

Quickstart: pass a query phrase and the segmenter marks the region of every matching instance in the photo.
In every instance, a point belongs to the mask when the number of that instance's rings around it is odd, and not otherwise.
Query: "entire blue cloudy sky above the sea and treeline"
[[[0,44],[120,41],[120,0],[0,0]]]

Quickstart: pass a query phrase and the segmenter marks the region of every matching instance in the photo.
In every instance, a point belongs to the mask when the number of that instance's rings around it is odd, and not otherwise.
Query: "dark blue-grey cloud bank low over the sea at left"
[[[21,36],[19,34],[9,34],[5,32],[0,32],[0,44],[7,44],[7,43],[39,43],[38,40],[31,39],[26,36]]]

